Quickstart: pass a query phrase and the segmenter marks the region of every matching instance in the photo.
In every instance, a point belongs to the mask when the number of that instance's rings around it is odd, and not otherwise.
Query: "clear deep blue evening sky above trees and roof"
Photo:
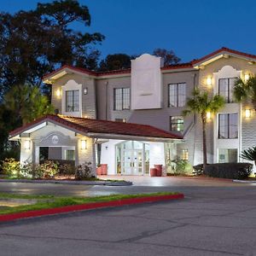
[[[47,0],[0,0],[0,10],[35,9]],[[256,1],[253,0],[79,0],[87,5],[90,27],[106,39],[102,56],[140,55],[172,49],[183,62],[223,46],[256,55]]]

